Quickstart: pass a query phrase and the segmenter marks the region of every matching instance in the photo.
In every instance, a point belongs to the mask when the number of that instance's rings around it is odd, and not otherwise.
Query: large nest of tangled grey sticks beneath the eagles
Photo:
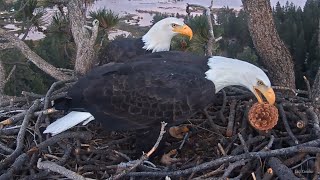
[[[319,105],[306,98],[307,93],[277,92],[276,111],[253,105],[256,99],[250,91],[226,88],[217,94],[216,104],[186,119],[192,132],[183,139],[184,130],[176,131],[180,139],[167,130],[164,146],[153,149],[154,157],[147,162],[148,153],[141,157],[137,152],[135,131],[108,132],[92,122],[53,137],[43,134],[64,115],[50,102],[66,96],[71,85],[57,82],[44,95],[23,92],[0,101],[0,180],[319,179]],[[257,131],[248,117],[279,122],[269,123],[274,127],[267,132]]]

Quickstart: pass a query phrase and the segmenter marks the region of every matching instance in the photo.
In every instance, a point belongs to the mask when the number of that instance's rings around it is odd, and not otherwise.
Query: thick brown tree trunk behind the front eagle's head
[[[270,0],[242,0],[242,3],[254,46],[272,84],[295,88],[292,57],[276,30]]]

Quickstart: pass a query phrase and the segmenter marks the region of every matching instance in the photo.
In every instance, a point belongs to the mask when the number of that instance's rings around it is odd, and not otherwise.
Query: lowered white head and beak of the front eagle
[[[249,89],[260,103],[263,102],[262,96],[269,104],[275,103],[276,97],[270,80],[257,66],[221,56],[209,58],[208,66],[206,78],[214,83],[216,93],[224,87],[238,85]]]

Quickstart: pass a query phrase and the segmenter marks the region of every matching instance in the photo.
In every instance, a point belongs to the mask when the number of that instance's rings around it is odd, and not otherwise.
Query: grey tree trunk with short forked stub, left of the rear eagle
[[[75,71],[78,75],[84,75],[91,70],[94,64],[94,44],[98,36],[99,21],[93,22],[92,33],[86,26],[86,16],[82,0],[70,0],[68,3],[71,31],[77,47]]]

